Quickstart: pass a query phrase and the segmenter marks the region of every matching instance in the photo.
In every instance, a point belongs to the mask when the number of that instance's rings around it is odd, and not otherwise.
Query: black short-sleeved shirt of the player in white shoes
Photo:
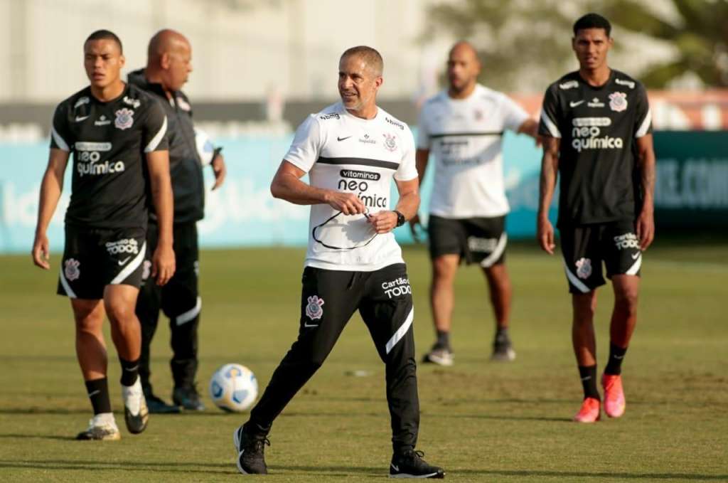
[[[132,85],[112,101],[99,101],[86,87],[58,104],[50,147],[73,154],[66,224],[146,228],[146,153],[166,150],[166,133],[165,111]]]

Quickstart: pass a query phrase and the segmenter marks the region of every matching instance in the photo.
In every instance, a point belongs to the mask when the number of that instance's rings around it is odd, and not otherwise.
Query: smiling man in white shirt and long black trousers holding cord
[[[414,139],[403,122],[376,106],[383,63],[371,47],[352,47],[339,61],[341,102],[308,117],[271,184],[275,197],[311,205],[309,248],[298,339],[250,420],[234,432],[237,468],[264,474],[264,446],[274,419],[323,364],[349,318],[359,311],[386,364],[392,418],[392,463],[398,478],[442,478],[415,451],[419,431],[407,267],[392,229],[417,213]],[[309,184],[301,178],[309,174]],[[394,179],[399,191],[390,211]]]

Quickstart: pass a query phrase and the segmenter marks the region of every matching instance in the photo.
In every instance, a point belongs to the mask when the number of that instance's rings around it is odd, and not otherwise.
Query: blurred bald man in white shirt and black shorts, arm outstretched
[[[422,107],[416,162],[422,183],[430,153],[435,182],[427,230],[432,259],[430,303],[437,340],[425,362],[453,364],[450,329],[453,284],[460,262],[478,263],[488,280],[496,318],[492,358],[511,361],[508,337],[510,280],[505,269],[505,216],[508,201],[503,182],[504,130],[534,138],[538,124],[506,95],[478,84],[480,61],[471,44],[459,42],[448,57],[448,89]],[[413,234],[419,216],[410,221]]]

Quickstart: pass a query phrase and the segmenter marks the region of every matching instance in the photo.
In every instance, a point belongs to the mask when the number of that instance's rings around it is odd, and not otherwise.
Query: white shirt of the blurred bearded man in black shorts
[[[430,213],[445,218],[508,213],[502,133],[517,131],[529,114],[507,95],[478,84],[465,99],[443,90],[419,116],[417,149],[435,157]]]

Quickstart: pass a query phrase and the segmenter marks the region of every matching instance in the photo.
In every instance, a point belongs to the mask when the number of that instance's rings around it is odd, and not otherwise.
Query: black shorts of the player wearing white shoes
[[[66,225],[58,295],[103,299],[107,285],[139,288],[146,251],[143,228],[82,228]]]

